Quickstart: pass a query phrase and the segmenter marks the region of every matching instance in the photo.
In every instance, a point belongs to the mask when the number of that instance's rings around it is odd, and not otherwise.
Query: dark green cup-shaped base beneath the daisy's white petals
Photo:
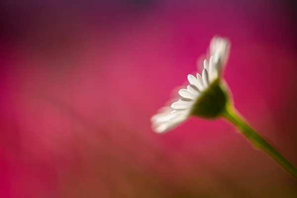
[[[191,115],[207,119],[218,118],[225,111],[228,102],[229,97],[226,88],[217,79],[202,92],[199,99],[193,105]]]

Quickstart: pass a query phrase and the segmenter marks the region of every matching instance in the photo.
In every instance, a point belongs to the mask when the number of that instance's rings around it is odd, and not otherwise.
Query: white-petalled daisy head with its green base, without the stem
[[[181,89],[178,101],[171,106],[161,109],[152,116],[152,129],[156,133],[164,133],[184,122],[189,116],[197,115],[215,118],[224,108],[227,101],[225,91],[222,90],[220,77],[229,55],[229,42],[214,37],[210,42],[209,62],[203,62],[202,76],[188,75],[187,89]],[[215,106],[216,108],[213,108]]]

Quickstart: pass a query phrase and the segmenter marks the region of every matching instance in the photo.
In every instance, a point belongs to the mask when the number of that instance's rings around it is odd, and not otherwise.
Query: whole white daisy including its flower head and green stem
[[[152,129],[162,134],[186,121],[190,116],[206,119],[223,118],[236,126],[247,140],[297,179],[297,168],[277,149],[271,146],[235,109],[227,83],[222,78],[229,56],[230,43],[214,37],[209,45],[209,59],[203,62],[202,75],[188,75],[189,85],[179,90],[180,97],[171,106],[165,106],[160,113],[152,116]]]

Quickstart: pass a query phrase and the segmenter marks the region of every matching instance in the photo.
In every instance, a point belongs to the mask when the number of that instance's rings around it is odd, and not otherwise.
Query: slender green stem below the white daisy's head
[[[250,143],[277,161],[288,173],[297,179],[297,168],[292,165],[279,151],[271,146],[264,138],[262,138],[255,130],[253,130],[243,116],[233,107],[228,107],[223,113],[223,117],[234,124],[242,134],[250,141]]]

